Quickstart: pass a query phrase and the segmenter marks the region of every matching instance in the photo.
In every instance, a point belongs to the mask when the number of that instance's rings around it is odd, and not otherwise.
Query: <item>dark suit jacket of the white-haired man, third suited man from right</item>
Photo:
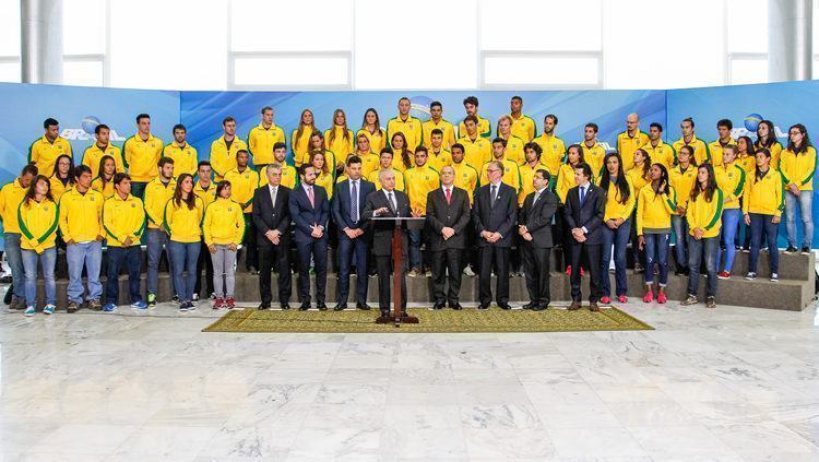
[[[472,221],[475,223],[475,233],[478,234],[478,247],[511,247],[512,233],[518,223],[518,194],[514,188],[500,183],[495,206],[490,198],[491,185],[484,185],[475,192],[475,206],[472,209]],[[500,233],[503,236],[495,244],[489,244],[480,237],[482,232]]]

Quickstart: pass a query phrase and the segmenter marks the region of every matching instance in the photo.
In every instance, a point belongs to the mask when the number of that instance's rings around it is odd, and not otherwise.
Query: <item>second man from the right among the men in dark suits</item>
[[[551,252],[551,217],[557,211],[557,197],[548,190],[549,173],[535,170],[534,192],[526,196],[519,216],[523,269],[526,274],[529,304],[523,309],[541,311],[549,306],[549,253]]]

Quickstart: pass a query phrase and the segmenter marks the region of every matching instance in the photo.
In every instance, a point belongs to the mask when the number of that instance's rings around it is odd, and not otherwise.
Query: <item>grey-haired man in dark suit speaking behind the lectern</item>
[[[373,216],[410,217],[410,198],[402,191],[395,190],[395,171],[382,169],[378,174],[381,190],[371,192],[367,197],[364,208],[363,220]],[[381,316],[390,315],[391,286],[390,273],[392,272],[392,235],[395,223],[391,221],[373,221],[372,227],[372,253],[376,256],[376,268],[378,269],[378,308]],[[408,264],[406,224],[401,225],[401,311],[406,312],[406,269]]]

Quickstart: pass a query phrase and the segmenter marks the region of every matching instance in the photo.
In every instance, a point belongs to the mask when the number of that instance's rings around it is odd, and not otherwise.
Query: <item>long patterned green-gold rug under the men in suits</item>
[[[393,324],[376,324],[378,310],[232,310],[202,332],[583,332],[654,329],[614,307],[603,308],[600,312],[592,312],[587,307],[577,311],[569,311],[566,307],[549,307],[545,311],[410,308],[408,312],[418,318],[418,323],[402,324],[396,329]]]

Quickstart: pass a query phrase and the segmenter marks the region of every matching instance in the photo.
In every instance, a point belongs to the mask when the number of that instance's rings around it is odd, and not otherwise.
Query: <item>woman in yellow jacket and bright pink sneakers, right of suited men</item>
[[[651,182],[637,198],[637,238],[640,249],[645,249],[645,295],[643,301],[654,300],[654,263],[658,266],[657,303],[665,304],[668,284],[668,247],[672,237],[672,214],[677,210],[677,194],[670,186],[668,170],[663,164],[650,169]]]

